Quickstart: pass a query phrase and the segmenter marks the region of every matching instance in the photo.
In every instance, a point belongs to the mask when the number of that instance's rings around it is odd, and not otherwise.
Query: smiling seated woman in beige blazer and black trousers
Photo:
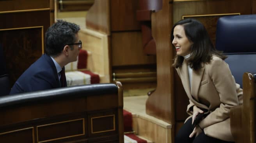
[[[174,24],[172,44],[177,55],[173,66],[189,98],[190,115],[175,143],[230,143],[230,108],[242,104],[242,89],[235,83],[226,56],[217,51],[203,24],[185,19]],[[207,115],[193,129],[199,113]]]

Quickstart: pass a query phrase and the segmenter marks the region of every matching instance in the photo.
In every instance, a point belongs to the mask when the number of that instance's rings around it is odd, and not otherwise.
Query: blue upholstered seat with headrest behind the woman
[[[256,72],[256,14],[220,17],[216,49],[228,56],[225,61],[242,88],[243,74]]]

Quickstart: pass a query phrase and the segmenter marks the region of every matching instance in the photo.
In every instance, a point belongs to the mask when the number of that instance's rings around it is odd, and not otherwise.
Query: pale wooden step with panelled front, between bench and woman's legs
[[[133,131],[153,143],[171,143],[172,125],[146,114],[148,96],[124,97],[124,110],[132,113]]]

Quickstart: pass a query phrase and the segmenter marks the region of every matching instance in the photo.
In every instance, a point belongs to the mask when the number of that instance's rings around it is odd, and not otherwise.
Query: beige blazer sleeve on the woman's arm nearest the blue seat
[[[211,64],[209,76],[219,93],[220,106],[199,123],[202,128],[228,119],[230,108],[238,105],[237,87],[228,64],[222,59],[214,59]]]

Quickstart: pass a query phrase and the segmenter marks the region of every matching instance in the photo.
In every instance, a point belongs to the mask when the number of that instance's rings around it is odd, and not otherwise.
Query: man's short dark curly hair
[[[53,57],[59,56],[65,45],[75,43],[75,34],[79,30],[80,27],[75,23],[57,20],[45,33],[46,54]]]

